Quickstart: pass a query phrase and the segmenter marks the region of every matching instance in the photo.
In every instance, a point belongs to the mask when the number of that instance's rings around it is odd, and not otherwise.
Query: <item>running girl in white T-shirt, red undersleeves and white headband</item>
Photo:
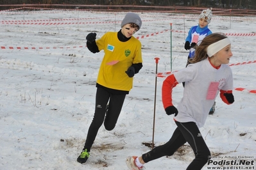
[[[232,70],[226,64],[232,57],[231,42],[225,35],[213,33],[206,36],[196,47],[190,65],[169,75],[162,85],[162,102],[167,115],[175,114],[177,125],[171,139],[153,148],[141,157],[128,157],[126,164],[130,169],[144,169],[143,164],[164,156],[171,156],[180,146],[189,143],[195,158],[187,170],[200,170],[210,159],[210,150],[201,136],[210,107],[218,93],[226,104],[234,102],[232,94]],[[177,107],[172,102],[172,89],[176,84],[186,82],[183,98]]]

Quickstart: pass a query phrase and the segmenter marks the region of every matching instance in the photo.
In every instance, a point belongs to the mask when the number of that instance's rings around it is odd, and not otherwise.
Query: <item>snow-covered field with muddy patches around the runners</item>
[[[143,67],[133,78],[114,130],[99,128],[87,163],[76,162],[94,115],[96,79],[104,56],[103,51],[92,54],[85,37],[119,31],[125,14],[0,12],[1,170],[125,170],[126,157],[150,151],[152,141],[159,146],[169,140],[176,125],[162,105],[162,82],[170,71],[185,67],[185,37],[198,24],[198,15],[138,12],[142,27],[134,36],[142,43]],[[217,97],[216,112],[200,128],[212,154],[212,162],[203,169],[255,169],[255,27],[255,17],[213,15],[209,24],[213,33],[225,33],[232,42],[229,65],[235,102],[226,105]],[[178,84],[173,89],[174,105],[182,95],[183,86]],[[173,156],[144,166],[186,169],[193,158],[185,144]],[[225,164],[232,160],[239,163]]]

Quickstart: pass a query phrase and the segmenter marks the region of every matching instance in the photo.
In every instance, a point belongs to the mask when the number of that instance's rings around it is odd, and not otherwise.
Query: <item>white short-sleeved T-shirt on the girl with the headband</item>
[[[205,124],[219,90],[232,91],[233,89],[233,75],[230,67],[221,65],[216,69],[210,64],[209,59],[190,64],[187,68],[183,68],[173,75],[178,83],[185,82],[182,100],[176,107],[178,115],[175,116],[175,120],[180,122],[192,121],[199,128]],[[213,84],[211,88],[210,84]],[[212,97],[207,99],[210,96],[209,89]],[[168,95],[166,97],[168,98]],[[165,101],[167,103],[167,100]],[[165,106],[165,101],[163,100],[163,104],[166,108],[168,104]]]

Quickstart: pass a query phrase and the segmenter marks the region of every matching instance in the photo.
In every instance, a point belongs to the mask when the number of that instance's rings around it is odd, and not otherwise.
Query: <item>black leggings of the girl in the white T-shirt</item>
[[[171,139],[166,144],[157,146],[148,153],[143,154],[142,159],[144,162],[149,162],[160,157],[171,156],[180,146],[187,142],[195,155],[187,170],[200,170],[209,160],[210,151],[201,136],[199,128],[194,122],[180,123],[175,121],[175,123],[178,127],[173,132]]]

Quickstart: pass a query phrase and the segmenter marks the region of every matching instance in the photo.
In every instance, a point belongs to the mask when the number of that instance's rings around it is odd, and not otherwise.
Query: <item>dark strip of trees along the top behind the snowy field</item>
[[[97,4],[256,9],[256,0],[0,0],[1,4]]]

